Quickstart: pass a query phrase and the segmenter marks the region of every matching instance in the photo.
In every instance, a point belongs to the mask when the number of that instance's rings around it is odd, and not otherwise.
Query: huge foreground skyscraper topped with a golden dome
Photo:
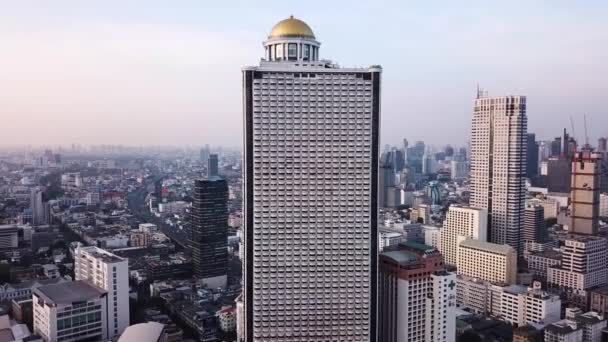
[[[381,68],[320,60],[293,17],[264,46],[243,69],[245,341],[376,341]]]

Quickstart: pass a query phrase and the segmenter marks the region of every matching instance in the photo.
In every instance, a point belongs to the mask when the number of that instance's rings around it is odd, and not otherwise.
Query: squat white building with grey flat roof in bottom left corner
[[[34,333],[47,342],[108,339],[107,292],[86,281],[42,286],[32,295]]]

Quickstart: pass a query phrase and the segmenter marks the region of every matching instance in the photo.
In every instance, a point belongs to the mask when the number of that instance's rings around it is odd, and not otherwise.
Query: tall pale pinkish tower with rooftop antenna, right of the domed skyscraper
[[[471,129],[471,206],[488,210],[488,240],[519,250],[525,206],[525,96],[475,99]]]

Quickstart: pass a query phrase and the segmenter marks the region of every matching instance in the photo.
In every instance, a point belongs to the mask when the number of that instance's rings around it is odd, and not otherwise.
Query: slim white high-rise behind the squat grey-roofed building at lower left
[[[108,292],[108,337],[129,326],[129,262],[97,247],[79,247],[74,256],[76,280]]]

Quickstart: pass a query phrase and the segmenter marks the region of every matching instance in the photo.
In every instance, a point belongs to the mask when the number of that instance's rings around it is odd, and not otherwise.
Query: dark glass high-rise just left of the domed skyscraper
[[[228,183],[218,176],[196,180],[192,197],[190,249],[194,274],[210,288],[225,287],[228,281]]]

